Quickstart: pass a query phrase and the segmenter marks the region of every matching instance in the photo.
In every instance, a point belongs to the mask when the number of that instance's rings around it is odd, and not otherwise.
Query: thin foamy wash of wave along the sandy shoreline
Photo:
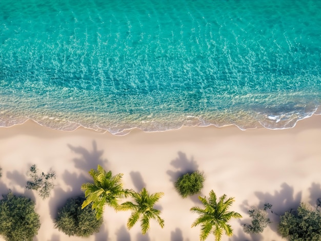
[[[313,115],[321,115],[321,108],[320,106],[315,107],[310,112],[299,113],[299,112],[284,112],[279,111],[277,112],[269,112],[269,113],[259,113],[260,120],[256,123],[251,121],[252,126],[248,124],[245,125],[238,125],[233,122],[214,122],[214,121],[207,121],[205,119],[201,119],[196,116],[186,115],[185,121],[182,123],[175,123],[174,125],[162,125],[161,123],[151,123],[149,122],[141,122],[139,125],[128,124],[127,126],[110,126],[110,127],[102,127],[99,124],[95,124],[92,126],[84,125],[76,122],[63,122],[61,119],[44,116],[42,120],[33,119],[29,117],[19,118],[19,119],[10,119],[4,121],[3,119],[0,120],[0,127],[2,128],[10,128],[15,125],[22,125],[27,121],[33,121],[38,125],[53,129],[53,130],[61,130],[61,131],[75,131],[79,128],[90,129],[99,133],[106,133],[109,132],[113,135],[127,135],[134,129],[139,129],[144,132],[163,132],[163,131],[170,131],[170,130],[177,130],[182,127],[208,127],[214,126],[217,128],[224,128],[227,126],[236,126],[240,130],[247,130],[247,129],[258,129],[258,128],[266,128],[271,130],[280,130],[280,129],[289,129],[294,128],[299,121],[302,121],[305,118],[309,118]],[[245,121],[243,119],[243,121]],[[248,119],[249,121],[249,119]],[[64,123],[64,124],[63,124]],[[253,125],[254,124],[254,125]],[[155,126],[158,126],[155,127]]]

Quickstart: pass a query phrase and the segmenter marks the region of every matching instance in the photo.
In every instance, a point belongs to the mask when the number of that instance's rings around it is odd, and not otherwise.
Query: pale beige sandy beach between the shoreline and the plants
[[[158,133],[134,130],[126,136],[85,129],[54,131],[27,122],[0,128],[0,193],[10,188],[35,200],[42,223],[36,240],[83,240],[58,232],[52,217],[68,197],[81,193],[81,185],[90,180],[88,171],[100,164],[114,174],[124,173],[125,188],[138,191],[146,186],[150,192],[164,192],[158,207],[165,227],[151,222],[150,231],[142,236],[139,224],[127,230],[130,212],[115,213],[106,207],[101,232],[86,240],[193,241],[198,240],[199,228],[190,227],[197,215],[189,209],[199,203],[196,197],[182,199],[172,180],[180,171],[197,168],[206,175],[202,193],[213,189],[217,196],[235,197],[231,210],[243,215],[230,222],[234,235],[223,240],[283,240],[275,232],[276,223],[252,237],[240,224],[248,220],[247,210],[253,205],[269,202],[274,213],[282,213],[300,202],[315,204],[321,197],[320,146],[321,116],[287,130],[196,127]],[[46,200],[24,188],[31,164],[57,173],[55,189]],[[274,214],[270,217],[277,220]]]

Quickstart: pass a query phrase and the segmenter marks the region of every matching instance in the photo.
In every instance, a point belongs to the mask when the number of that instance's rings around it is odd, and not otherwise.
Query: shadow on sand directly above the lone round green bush
[[[175,183],[180,176],[186,173],[192,173],[198,168],[193,157],[189,160],[186,154],[181,151],[178,152],[178,157],[171,161],[171,165],[176,168],[177,171],[168,170],[166,173],[171,177],[170,180],[173,183]]]

